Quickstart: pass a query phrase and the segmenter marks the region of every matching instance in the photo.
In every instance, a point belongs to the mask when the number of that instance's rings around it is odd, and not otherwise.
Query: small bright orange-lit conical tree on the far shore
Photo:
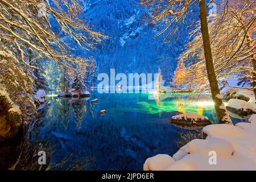
[[[180,88],[182,88],[186,76],[187,69],[185,68],[183,61],[180,60],[174,72],[174,85],[180,85]]]

